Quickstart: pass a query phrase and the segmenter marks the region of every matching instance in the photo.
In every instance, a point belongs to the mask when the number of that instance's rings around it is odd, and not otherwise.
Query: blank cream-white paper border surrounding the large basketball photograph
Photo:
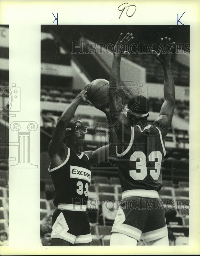
[[[134,4],[132,17],[123,3]],[[190,245],[168,247],[44,247],[40,245],[40,25],[58,24],[190,25]],[[1,255],[76,254],[199,254],[199,1],[0,1],[0,24],[9,25],[9,86],[21,88],[21,111],[11,121],[35,121],[38,129],[30,134],[30,159],[34,169],[9,167],[9,246]],[[54,22],[56,26],[56,21]],[[179,25],[181,26],[181,25]],[[134,34],[134,31],[131,31]],[[166,35],[167,36],[167,35]],[[9,141],[17,132],[9,131]],[[16,155],[16,147],[9,147]],[[13,164],[10,161],[10,164]],[[9,166],[10,166],[9,164]]]

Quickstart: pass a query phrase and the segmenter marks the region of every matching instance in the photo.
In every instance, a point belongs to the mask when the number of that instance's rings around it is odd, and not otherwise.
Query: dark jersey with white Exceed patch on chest
[[[89,158],[81,153],[77,156],[70,148],[66,160],[49,172],[55,189],[54,205],[85,205],[91,180]]]

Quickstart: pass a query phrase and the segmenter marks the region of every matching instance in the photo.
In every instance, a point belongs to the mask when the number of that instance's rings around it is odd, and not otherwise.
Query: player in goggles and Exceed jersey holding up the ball
[[[87,86],[62,113],[49,144],[49,172],[57,207],[52,216],[51,246],[90,245],[92,241],[86,204],[91,180],[90,164],[98,162],[99,150],[80,152],[87,127],[73,118],[78,105],[89,102]],[[104,150],[106,148],[104,146]]]

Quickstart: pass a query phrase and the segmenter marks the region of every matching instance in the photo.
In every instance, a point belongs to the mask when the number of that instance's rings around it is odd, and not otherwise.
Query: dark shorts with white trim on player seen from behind
[[[144,242],[167,236],[166,218],[160,202],[160,198],[138,196],[123,199],[111,233],[122,233],[137,241],[141,237]]]

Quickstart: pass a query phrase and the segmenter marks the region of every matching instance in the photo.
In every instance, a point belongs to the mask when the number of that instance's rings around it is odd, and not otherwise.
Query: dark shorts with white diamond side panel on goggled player
[[[72,244],[91,242],[88,213],[56,209],[52,215],[51,238],[60,238]]]

